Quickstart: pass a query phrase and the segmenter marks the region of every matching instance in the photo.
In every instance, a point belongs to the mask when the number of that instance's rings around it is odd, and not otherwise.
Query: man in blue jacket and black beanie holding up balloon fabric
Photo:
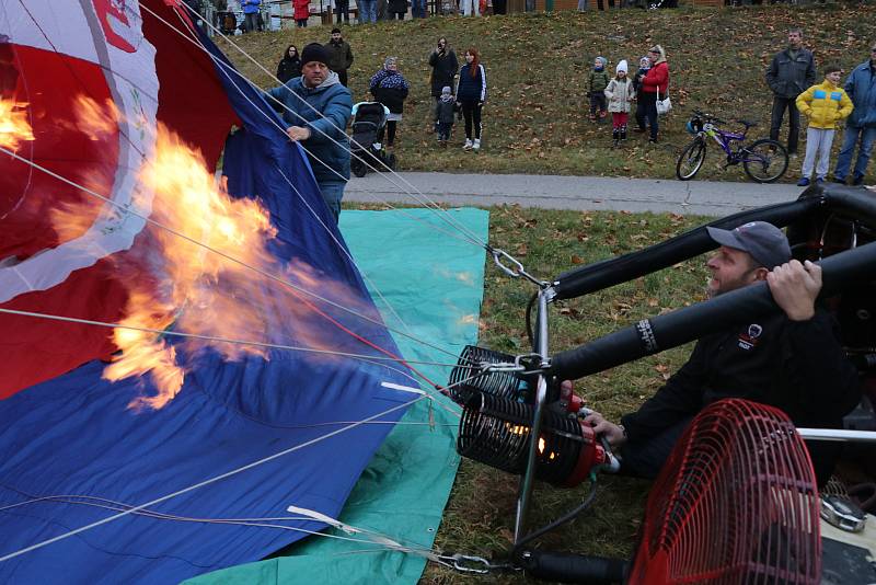
[[[349,181],[349,138],[346,127],[353,97],[331,71],[328,55],[319,43],[301,51],[301,77],[267,92],[268,103],[283,112],[286,134],[308,153],[325,204],[341,215],[341,199]]]

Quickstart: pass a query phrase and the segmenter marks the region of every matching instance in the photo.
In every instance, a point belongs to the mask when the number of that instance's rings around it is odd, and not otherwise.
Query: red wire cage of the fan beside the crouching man
[[[787,415],[723,400],[694,418],[655,482],[630,583],[816,584],[818,514]]]

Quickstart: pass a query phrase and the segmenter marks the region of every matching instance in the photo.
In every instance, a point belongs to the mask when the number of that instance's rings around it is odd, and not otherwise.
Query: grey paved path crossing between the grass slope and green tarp
[[[405,192],[415,186],[429,199],[448,205],[519,204],[546,209],[673,211],[725,216],[796,199],[803,187],[788,184],[721,183],[601,176],[526,174],[368,173],[353,177],[344,199],[417,205]]]

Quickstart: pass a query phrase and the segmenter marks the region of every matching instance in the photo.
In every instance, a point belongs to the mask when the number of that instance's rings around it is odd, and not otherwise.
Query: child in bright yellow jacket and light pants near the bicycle
[[[830,167],[830,147],[833,145],[833,134],[837,124],[852,113],[852,100],[840,87],[842,71],[839,67],[825,68],[825,81],[812,85],[797,96],[797,110],[809,118],[809,128],[806,130],[806,158],[803,161],[803,176],[797,182],[805,187],[810,182],[812,167],[818,157],[816,181],[825,181]]]

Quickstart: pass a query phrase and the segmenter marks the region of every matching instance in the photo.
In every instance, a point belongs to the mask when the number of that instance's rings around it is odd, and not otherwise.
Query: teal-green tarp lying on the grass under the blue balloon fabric
[[[487,240],[487,211],[448,213]],[[484,288],[482,248],[454,237],[458,231],[426,209],[344,211],[341,230],[387,324],[438,347],[395,335],[406,359],[450,364],[466,344],[476,343]],[[435,365],[415,367],[438,383],[446,383],[450,372]],[[412,406],[362,473],[339,519],[413,548],[430,548],[459,466],[459,417],[453,412],[458,409],[442,397]],[[425,566],[416,555],[321,536],[286,553],[187,583],[402,584],[416,583]]]

